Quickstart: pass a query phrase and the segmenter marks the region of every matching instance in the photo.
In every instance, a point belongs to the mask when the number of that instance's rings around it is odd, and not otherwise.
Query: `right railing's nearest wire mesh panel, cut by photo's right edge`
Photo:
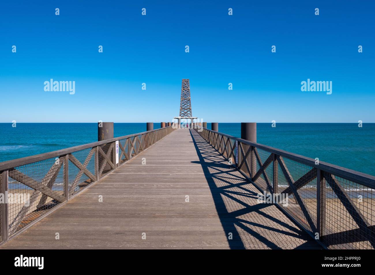
[[[323,172],[322,239],[334,249],[374,249],[375,190]]]

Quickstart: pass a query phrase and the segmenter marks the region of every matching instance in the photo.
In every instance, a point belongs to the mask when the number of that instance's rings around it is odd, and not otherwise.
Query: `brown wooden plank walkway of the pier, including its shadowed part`
[[[195,131],[178,129],[1,248],[321,248],[257,193]]]

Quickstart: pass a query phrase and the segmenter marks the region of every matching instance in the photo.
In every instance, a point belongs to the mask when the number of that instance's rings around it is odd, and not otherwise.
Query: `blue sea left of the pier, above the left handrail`
[[[98,123],[0,123],[0,131],[0,162],[98,141]],[[114,123],[115,137],[144,131],[146,123]]]

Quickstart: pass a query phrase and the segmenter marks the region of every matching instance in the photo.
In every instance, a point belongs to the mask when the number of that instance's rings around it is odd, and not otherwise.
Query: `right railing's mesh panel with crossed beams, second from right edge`
[[[317,169],[293,159],[278,158],[279,203],[306,230],[317,233]]]

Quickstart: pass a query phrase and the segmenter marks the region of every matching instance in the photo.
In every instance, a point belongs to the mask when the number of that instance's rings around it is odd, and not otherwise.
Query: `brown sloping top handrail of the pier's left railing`
[[[0,171],[5,171],[7,169],[11,169],[11,168],[14,168],[14,167],[17,167],[17,166],[26,165],[26,164],[30,164],[30,163],[33,163],[33,162],[42,161],[44,159],[53,158],[55,156],[67,155],[69,153],[73,153],[73,152],[76,152],[78,150],[96,147],[96,146],[99,146],[99,145],[102,145],[102,144],[111,143],[111,142],[114,142],[114,141],[117,141],[117,140],[122,140],[124,138],[131,138],[131,137],[135,137],[137,135],[143,135],[143,134],[147,134],[147,133],[150,133],[150,132],[159,131],[160,129],[165,129],[165,128],[169,128],[169,127],[172,127],[172,126],[167,126],[167,127],[164,127],[164,128],[158,128],[158,129],[154,129],[154,130],[151,130],[151,131],[145,131],[145,132],[131,134],[131,135],[124,135],[122,137],[110,138],[108,140],[86,143],[86,144],[83,144],[83,145],[78,145],[78,146],[60,149],[60,150],[47,152],[47,153],[42,153],[42,154],[38,154],[38,155],[27,156],[27,157],[24,157],[24,158],[11,159],[9,161],[3,161],[3,162],[0,162]]]

